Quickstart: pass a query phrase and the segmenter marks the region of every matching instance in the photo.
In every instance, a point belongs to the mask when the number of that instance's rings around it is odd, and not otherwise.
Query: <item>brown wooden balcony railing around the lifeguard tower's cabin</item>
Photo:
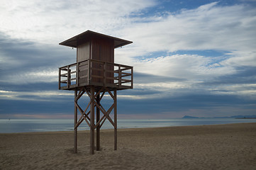
[[[133,89],[133,67],[99,60],[85,60],[59,68],[59,89],[88,85]]]

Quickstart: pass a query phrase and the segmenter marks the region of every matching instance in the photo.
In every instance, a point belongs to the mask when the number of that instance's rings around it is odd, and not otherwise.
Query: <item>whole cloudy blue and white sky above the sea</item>
[[[86,30],[133,41],[115,50],[134,67],[118,118],[256,115],[255,0],[0,3],[0,118],[74,117],[57,81],[76,50],[58,44]]]

